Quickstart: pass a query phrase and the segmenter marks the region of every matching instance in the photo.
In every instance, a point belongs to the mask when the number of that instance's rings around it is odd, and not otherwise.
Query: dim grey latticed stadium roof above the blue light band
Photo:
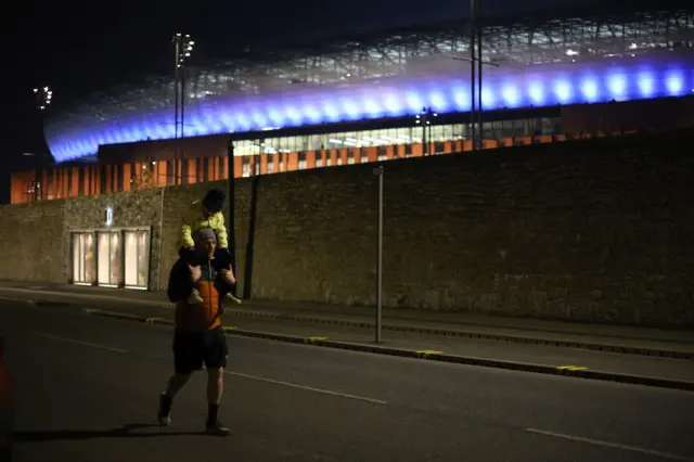
[[[564,11],[562,18],[556,17],[556,13],[545,13],[486,21],[484,61],[498,66],[487,72],[524,73],[528,66],[647,56],[694,47],[694,9],[593,16]],[[461,21],[451,21],[391,29],[358,40],[322,41],[311,48],[248,51],[235,59],[209,60],[188,68],[187,111],[228,104],[224,102],[232,98],[321,87],[347,90],[398,78],[465,75],[468,65],[453,60],[470,53],[465,27]],[[127,116],[160,113],[172,105],[172,75],[150,77],[62,108],[47,132],[55,139],[80,126],[118,123]]]

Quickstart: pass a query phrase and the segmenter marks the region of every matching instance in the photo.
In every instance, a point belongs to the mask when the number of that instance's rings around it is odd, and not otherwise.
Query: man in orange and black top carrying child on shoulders
[[[231,269],[217,271],[214,264],[217,235],[209,228],[195,231],[197,266],[180,259],[169,277],[169,298],[176,300],[176,330],[174,333],[175,374],[169,378],[166,392],[159,396],[157,420],[160,425],[171,422],[171,405],[176,394],[185,385],[194,371],[207,368],[208,414],[206,431],[211,435],[229,435],[217,413],[223,388],[227,365],[227,338],[221,328],[221,296],[217,291],[219,280],[231,285],[235,279]],[[198,290],[202,303],[190,303],[193,287]]]

